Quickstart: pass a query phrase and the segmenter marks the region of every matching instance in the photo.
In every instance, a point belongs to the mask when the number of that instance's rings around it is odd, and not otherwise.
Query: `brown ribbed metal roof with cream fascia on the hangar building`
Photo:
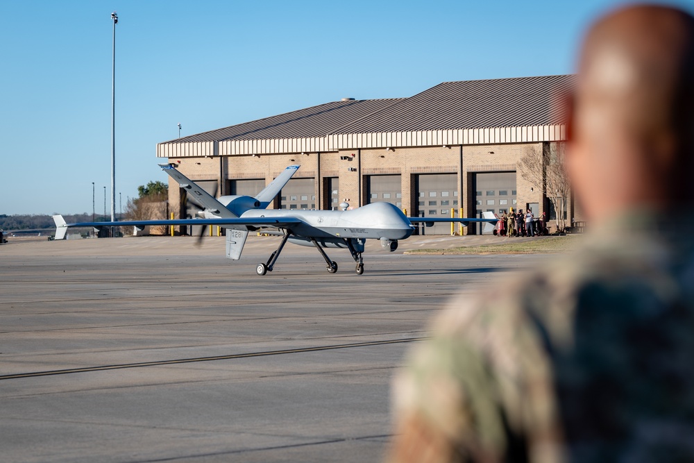
[[[566,139],[553,103],[574,76],[444,82],[403,99],[333,101],[157,145],[159,157]]]

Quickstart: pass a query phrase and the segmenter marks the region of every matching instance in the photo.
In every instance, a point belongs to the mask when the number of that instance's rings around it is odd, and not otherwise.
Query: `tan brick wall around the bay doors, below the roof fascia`
[[[228,180],[263,178],[269,183],[289,165],[301,165],[294,178],[314,178],[316,207],[326,204],[323,179],[339,178],[339,199],[353,207],[366,203],[364,176],[399,174],[402,181],[403,209],[411,213],[417,201],[414,178],[417,174],[457,174],[458,191],[463,192],[460,205],[470,217],[475,209],[475,192],[471,191],[472,175],[476,172],[516,171],[516,162],[526,146],[542,149],[535,144],[498,144],[475,146],[428,146],[394,149],[351,149],[330,153],[287,153],[273,155],[236,155],[217,158],[171,159],[191,180],[223,180],[221,194],[229,194]],[[344,157],[346,159],[341,159]],[[462,159],[462,165],[461,165]],[[350,168],[357,171],[350,171]],[[518,206],[544,204],[541,188],[516,177]],[[180,217],[180,194],[174,180],[169,183],[169,210]],[[271,205],[271,208],[277,204]]]

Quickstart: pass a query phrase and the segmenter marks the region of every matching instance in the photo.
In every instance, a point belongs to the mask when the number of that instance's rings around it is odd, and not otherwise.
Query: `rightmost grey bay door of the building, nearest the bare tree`
[[[491,211],[502,216],[511,208],[516,210],[516,172],[478,172],[473,174],[475,192],[475,217]],[[480,234],[482,226],[477,226]],[[491,232],[487,232],[491,235]]]

